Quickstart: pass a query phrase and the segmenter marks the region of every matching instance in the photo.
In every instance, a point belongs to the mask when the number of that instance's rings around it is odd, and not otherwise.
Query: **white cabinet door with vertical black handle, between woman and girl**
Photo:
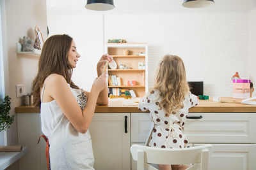
[[[131,169],[130,113],[95,113],[90,124],[90,133],[95,169]]]

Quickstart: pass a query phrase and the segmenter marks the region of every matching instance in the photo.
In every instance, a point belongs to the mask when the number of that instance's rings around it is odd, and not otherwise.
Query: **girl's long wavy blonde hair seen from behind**
[[[180,57],[164,56],[157,69],[156,80],[150,92],[154,89],[159,91],[160,109],[164,108],[168,116],[183,107],[189,86],[186,81],[185,66]]]

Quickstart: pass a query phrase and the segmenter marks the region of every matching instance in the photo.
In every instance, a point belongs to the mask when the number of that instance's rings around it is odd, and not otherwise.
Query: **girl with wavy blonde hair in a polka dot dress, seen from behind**
[[[185,148],[188,139],[184,134],[184,124],[189,108],[197,104],[197,97],[189,92],[182,59],[165,55],[157,69],[153,87],[138,106],[141,111],[150,111],[154,123],[146,144],[157,148]],[[186,168],[188,166],[159,165],[161,170]]]

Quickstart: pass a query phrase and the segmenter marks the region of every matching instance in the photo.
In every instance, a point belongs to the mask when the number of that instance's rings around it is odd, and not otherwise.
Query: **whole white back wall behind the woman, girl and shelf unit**
[[[255,73],[255,62],[251,62],[253,59],[255,61],[255,38],[250,38],[250,41],[248,38],[249,32],[255,35],[255,17],[253,11],[105,14],[103,27],[100,15],[48,15],[48,25],[51,34],[65,32],[74,37],[82,54],[81,62],[74,71],[74,81],[87,90],[96,76],[95,64],[99,60],[97,56],[102,53],[103,39],[124,38],[128,42],[148,43],[149,86],[154,81],[159,60],[164,54],[170,53],[184,60],[188,81],[204,81],[205,95],[232,96],[231,76],[238,71],[241,78],[252,78]]]

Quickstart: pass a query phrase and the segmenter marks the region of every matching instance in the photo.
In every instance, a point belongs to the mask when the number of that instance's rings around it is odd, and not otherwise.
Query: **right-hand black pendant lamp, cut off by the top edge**
[[[186,8],[204,8],[214,4],[214,0],[184,0],[182,6]]]

